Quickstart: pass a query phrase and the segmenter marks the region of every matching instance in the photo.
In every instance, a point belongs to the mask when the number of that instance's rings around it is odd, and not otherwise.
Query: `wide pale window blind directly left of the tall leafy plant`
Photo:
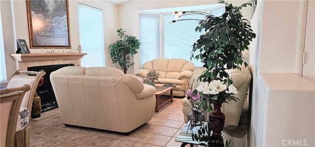
[[[202,20],[204,17],[205,15],[201,14],[191,14],[184,15],[178,20],[189,18]],[[170,24],[169,22],[174,19],[174,15],[164,16],[164,58],[182,58],[190,60],[192,45],[199,39],[201,34],[204,34],[204,31],[195,31],[199,21],[184,20]],[[200,60],[192,58],[191,61],[197,67],[201,67],[203,65]]]

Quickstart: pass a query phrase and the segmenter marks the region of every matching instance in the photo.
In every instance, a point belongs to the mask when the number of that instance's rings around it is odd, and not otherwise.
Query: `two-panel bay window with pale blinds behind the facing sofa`
[[[220,16],[224,13],[225,7],[213,9],[210,14]],[[139,15],[139,30],[140,30],[140,64],[155,58],[183,58],[190,61],[190,53],[192,45],[199,39],[201,34],[205,32],[196,32],[198,26],[196,20],[177,21],[169,24],[174,20],[174,15],[159,13],[163,20],[162,25],[159,23],[158,15],[140,14]],[[180,19],[204,19],[202,14],[183,15]],[[180,20],[177,19],[177,20]],[[164,30],[163,35],[160,34],[158,28]],[[158,38],[161,36],[163,41]],[[163,44],[161,44],[161,42]],[[164,53],[159,55],[158,53]],[[198,52],[194,53],[195,55]],[[202,67],[203,63],[200,60],[191,59],[196,67]]]

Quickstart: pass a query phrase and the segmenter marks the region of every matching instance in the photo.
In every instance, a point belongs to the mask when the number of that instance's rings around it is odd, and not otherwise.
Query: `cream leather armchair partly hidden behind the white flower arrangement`
[[[231,125],[238,125],[239,120],[241,118],[241,114],[243,111],[244,102],[247,96],[248,88],[250,86],[252,75],[249,67],[245,67],[244,65],[241,66],[241,71],[237,69],[229,70],[229,77],[233,80],[233,85],[235,88],[237,88],[238,93],[234,95],[235,97],[239,98],[237,102],[235,101],[227,101],[227,103],[223,103],[221,107],[221,111],[225,115],[225,124],[231,124]],[[183,101],[183,114],[184,114],[184,120],[187,123],[188,122],[188,114],[191,112],[191,109],[188,107],[188,105],[191,107],[191,103],[187,98],[184,98]],[[207,119],[207,112],[204,112],[206,115],[206,121]]]

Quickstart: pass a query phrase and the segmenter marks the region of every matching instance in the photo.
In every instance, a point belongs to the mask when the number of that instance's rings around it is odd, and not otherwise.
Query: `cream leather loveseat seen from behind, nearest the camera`
[[[113,67],[67,66],[50,80],[65,125],[128,135],[155,112],[156,89]]]

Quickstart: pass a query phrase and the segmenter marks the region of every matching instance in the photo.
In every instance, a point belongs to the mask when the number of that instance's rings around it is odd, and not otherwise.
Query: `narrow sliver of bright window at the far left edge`
[[[2,20],[0,15],[0,83],[6,82]]]

